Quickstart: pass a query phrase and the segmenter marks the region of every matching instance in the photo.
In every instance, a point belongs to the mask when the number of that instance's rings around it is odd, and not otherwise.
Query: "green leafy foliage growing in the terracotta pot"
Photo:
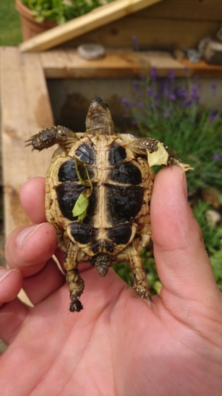
[[[112,0],[106,0],[109,3]],[[80,17],[104,4],[103,0],[22,0],[37,22],[45,19],[61,24]]]

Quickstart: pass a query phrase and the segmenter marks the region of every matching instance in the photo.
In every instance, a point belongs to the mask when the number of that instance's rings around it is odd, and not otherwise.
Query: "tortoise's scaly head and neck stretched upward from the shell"
[[[114,135],[114,124],[108,104],[101,98],[93,98],[86,116],[86,133]]]

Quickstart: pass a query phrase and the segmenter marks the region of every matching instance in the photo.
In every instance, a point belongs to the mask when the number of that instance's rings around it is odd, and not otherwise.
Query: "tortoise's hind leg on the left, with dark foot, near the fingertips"
[[[70,293],[71,304],[69,310],[71,312],[79,312],[83,309],[79,297],[84,291],[84,280],[79,275],[77,266],[77,251],[73,244],[69,243],[69,247],[66,250],[64,257],[64,272],[66,274],[66,282]]]

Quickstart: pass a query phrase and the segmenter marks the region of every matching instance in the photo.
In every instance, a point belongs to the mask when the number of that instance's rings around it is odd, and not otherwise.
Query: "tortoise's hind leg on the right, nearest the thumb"
[[[147,298],[148,303],[152,302],[151,295],[149,293],[149,283],[147,281],[147,274],[143,267],[143,262],[140,253],[133,247],[127,248],[128,261],[132,269],[132,278],[130,279],[132,288],[136,294],[141,298]]]

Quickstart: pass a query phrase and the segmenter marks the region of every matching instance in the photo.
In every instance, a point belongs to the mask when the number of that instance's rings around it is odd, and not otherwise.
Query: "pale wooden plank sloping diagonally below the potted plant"
[[[86,32],[106,25],[116,19],[149,7],[162,0],[116,0],[96,8],[82,17],[73,19],[64,25],[57,26],[39,34],[20,45],[21,52],[44,51],[60,45]]]

